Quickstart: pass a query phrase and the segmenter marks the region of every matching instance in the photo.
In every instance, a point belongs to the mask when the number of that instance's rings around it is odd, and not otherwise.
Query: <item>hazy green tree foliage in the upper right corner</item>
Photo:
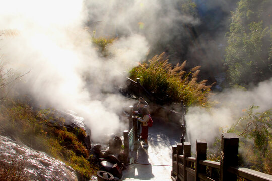
[[[240,0],[227,33],[225,65],[230,85],[246,86],[272,76],[271,1]]]

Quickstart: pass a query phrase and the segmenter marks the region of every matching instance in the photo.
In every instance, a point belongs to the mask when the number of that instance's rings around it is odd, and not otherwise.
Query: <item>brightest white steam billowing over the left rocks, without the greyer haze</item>
[[[109,58],[101,58],[85,29],[89,20],[85,1],[7,1],[0,7],[0,29],[17,36],[1,36],[0,53],[6,68],[30,71],[18,93],[33,95],[38,104],[73,110],[84,117],[92,139],[124,129],[119,115],[133,104],[114,87],[123,72],[146,55],[146,38],[130,34],[114,41]],[[98,2],[98,1],[96,1]]]

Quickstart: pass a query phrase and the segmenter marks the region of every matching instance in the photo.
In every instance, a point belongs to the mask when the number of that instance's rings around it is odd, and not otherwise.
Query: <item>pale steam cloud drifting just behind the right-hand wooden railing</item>
[[[248,91],[232,89],[213,95],[210,100],[219,103],[209,111],[200,107],[189,108],[186,120],[192,146],[195,146],[196,139],[205,139],[207,144],[212,145],[215,137],[220,137],[222,131],[226,132],[243,115],[243,110],[251,105],[259,106],[255,110],[257,112],[271,109],[271,89],[272,79]]]

